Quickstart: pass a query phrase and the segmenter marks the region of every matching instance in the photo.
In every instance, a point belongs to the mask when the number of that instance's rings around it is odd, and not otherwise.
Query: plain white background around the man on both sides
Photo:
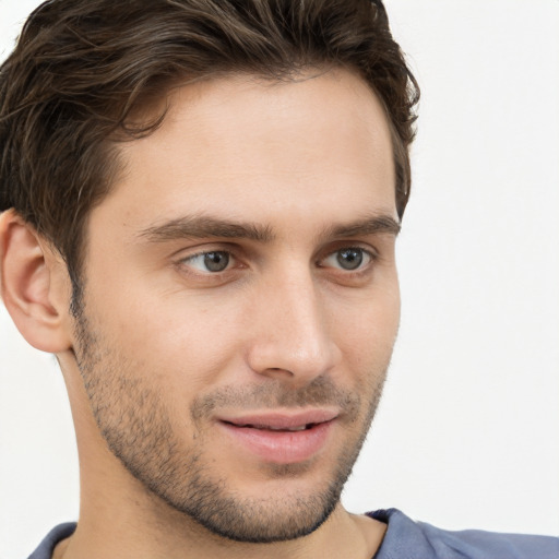
[[[34,0],[0,0],[3,58]],[[452,530],[559,533],[559,1],[388,0],[421,84],[390,380],[345,491]],[[0,306],[0,559],[78,514],[53,358]]]

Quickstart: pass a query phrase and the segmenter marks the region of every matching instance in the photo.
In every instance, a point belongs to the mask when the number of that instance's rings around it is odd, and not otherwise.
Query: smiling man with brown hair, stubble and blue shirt
[[[555,557],[352,515],[399,321],[415,81],[380,2],[55,1],[0,84],[2,299],[57,355],[40,557]]]

